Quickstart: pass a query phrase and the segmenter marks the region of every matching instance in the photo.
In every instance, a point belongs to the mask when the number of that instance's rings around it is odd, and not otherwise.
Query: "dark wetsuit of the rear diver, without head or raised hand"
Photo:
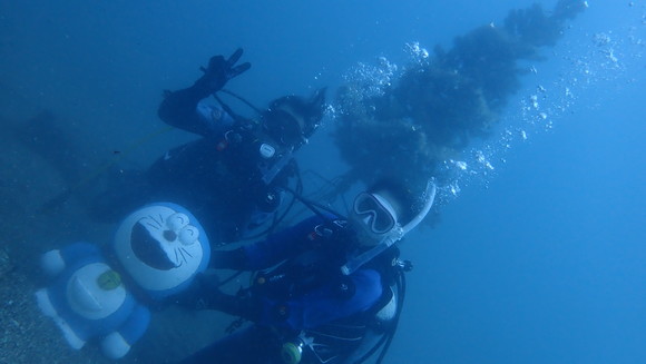
[[[161,120],[202,138],[168,150],[145,173],[117,174],[123,180],[97,199],[95,215],[116,219],[147,203],[172,201],[204,222],[216,245],[238,240],[272,216],[294,175],[294,161],[283,160],[290,150],[253,121],[208,105],[209,95],[199,82],[167,95]],[[278,161],[284,167],[272,170]],[[268,170],[271,179],[264,178]]]

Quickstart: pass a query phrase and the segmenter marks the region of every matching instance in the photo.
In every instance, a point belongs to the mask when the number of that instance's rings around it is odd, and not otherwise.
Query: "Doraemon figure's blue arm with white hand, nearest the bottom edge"
[[[144,335],[149,323],[150,312],[148,308],[139,304],[135,305],[126,323],[118,331],[109,333],[101,340],[104,354],[112,360],[126,355],[133,344]]]

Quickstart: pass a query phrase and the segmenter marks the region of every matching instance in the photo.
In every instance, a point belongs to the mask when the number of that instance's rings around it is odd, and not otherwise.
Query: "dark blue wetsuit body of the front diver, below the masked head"
[[[349,229],[336,227],[312,217],[263,242],[215,252],[212,265],[218,268],[256,270],[278,265],[260,272],[252,287],[236,296],[217,293],[206,299],[211,308],[254,325],[183,363],[283,363],[285,343],[303,347],[301,363],[343,363],[362,344],[375,308],[390,289],[388,269],[381,264],[350,276],[341,274],[355,238]]]

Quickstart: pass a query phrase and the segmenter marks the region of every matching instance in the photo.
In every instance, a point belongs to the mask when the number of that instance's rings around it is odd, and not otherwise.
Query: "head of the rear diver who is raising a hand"
[[[319,89],[305,100],[297,96],[284,96],[270,104],[263,112],[265,131],[284,147],[307,142],[321,124],[325,104],[325,88]]]

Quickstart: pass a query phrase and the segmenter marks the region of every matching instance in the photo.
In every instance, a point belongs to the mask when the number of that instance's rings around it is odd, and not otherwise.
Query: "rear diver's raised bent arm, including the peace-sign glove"
[[[251,68],[248,62],[235,66],[242,52],[242,49],[238,49],[226,60],[222,56],[212,57],[208,67],[203,69],[204,76],[192,87],[169,92],[161,101],[159,118],[168,125],[202,136],[222,132],[222,126],[217,125],[221,119],[214,112],[223,110],[209,108],[199,101],[219,91],[228,80]]]

